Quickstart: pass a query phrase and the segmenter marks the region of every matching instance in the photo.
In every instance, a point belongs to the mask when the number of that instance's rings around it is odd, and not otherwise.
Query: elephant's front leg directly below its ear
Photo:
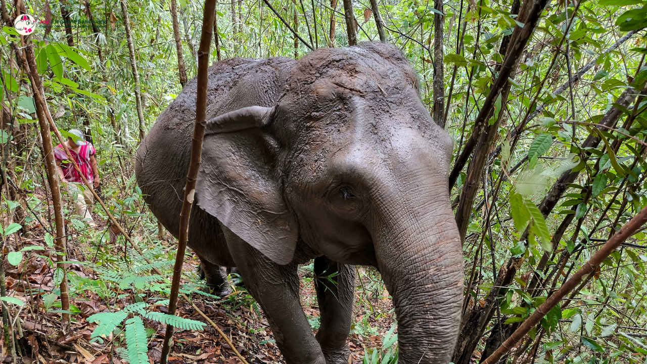
[[[245,288],[261,305],[285,362],[325,364],[299,301],[297,265],[272,262],[229,229],[225,236]]]

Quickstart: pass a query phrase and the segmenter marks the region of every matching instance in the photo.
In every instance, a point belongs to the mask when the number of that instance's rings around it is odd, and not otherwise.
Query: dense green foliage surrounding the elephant
[[[219,3],[212,61],[236,56],[300,57],[310,48],[344,47],[348,37],[341,3]],[[531,24],[518,21],[520,4],[515,1],[379,3],[386,41],[410,60],[419,75],[424,104],[434,119],[445,120],[454,139],[450,185],[457,222],[465,227],[466,318],[454,363],[487,357],[647,205],[647,45],[642,30],[647,26],[647,5],[643,5],[640,0],[549,1],[527,43],[516,49],[512,47],[515,39],[510,39],[513,30]],[[12,28],[21,6],[39,22],[29,41],[53,121],[61,131],[84,128],[98,150],[104,175],[102,198],[129,234],[157,249],[159,240],[144,238],[157,234],[157,222],[135,187],[133,156],[141,135],[138,128],[148,130],[182,88],[171,4],[166,0],[17,0],[5,4],[3,0],[2,6],[1,224],[4,261],[10,264],[5,266],[20,267],[38,250],[54,246],[43,139],[33,89],[22,65],[26,44]],[[177,3],[182,58],[189,79],[197,73],[202,6],[195,0]],[[370,3],[357,0],[353,6],[358,41],[378,40]],[[124,12],[129,17],[131,40],[124,27]],[[67,29],[65,19],[69,20]],[[439,27],[441,38],[435,33]],[[488,101],[505,71],[504,57],[513,56],[518,60],[503,80],[507,86]],[[437,73],[440,69],[444,72]],[[435,104],[439,102],[435,85],[442,91],[440,104]],[[432,111],[439,105],[443,106],[440,118]],[[491,113],[479,116],[488,108]],[[465,155],[462,163],[461,155]],[[96,212],[107,220],[104,211]],[[137,252],[116,249],[120,243],[109,238],[110,234],[85,232],[85,225],[76,218],[67,224],[73,236],[82,242],[87,239],[87,244],[92,242],[101,252],[103,260],[95,269],[102,278],[97,282],[113,282],[113,290],[134,284],[133,292],[166,294],[168,286],[154,289],[155,284],[148,283],[160,277],[132,271],[142,266],[141,260],[129,256]],[[34,239],[47,244],[28,243]],[[604,260],[595,274],[524,337],[507,360],[515,364],[647,362],[646,240],[644,231],[639,231]],[[108,258],[110,251],[128,257],[127,263],[120,266],[115,256]],[[43,256],[54,267],[51,255]],[[72,295],[88,289],[74,275],[55,273],[57,284],[63,279],[71,280]],[[17,317],[18,310],[24,309],[19,309],[23,301],[15,301],[12,292],[10,288],[3,301],[8,303],[9,317]],[[54,293],[42,294],[41,308],[30,302],[33,310],[51,313],[60,292]],[[129,348],[122,358],[129,357],[131,363],[146,361],[138,357],[146,348],[137,349],[137,345],[146,346],[141,317],[164,319],[146,312],[146,306],[133,302],[123,310],[88,319],[100,322],[93,337],[105,337],[123,325]],[[371,306],[370,312],[377,317],[379,311]],[[199,326],[195,321],[177,320],[187,329]],[[386,328],[379,332],[384,339],[367,347],[365,363],[397,359],[391,348],[396,337],[393,328],[390,324],[382,328]],[[5,334],[5,347],[12,345],[10,336]]]

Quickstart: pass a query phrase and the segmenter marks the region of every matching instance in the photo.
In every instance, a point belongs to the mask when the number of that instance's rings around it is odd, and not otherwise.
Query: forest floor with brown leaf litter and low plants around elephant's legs
[[[41,201],[47,199],[43,196]],[[102,212],[102,211],[101,211]],[[95,210],[96,221],[105,216]],[[144,214],[140,214],[144,215]],[[41,215],[41,221],[44,214]],[[131,216],[132,217],[132,216]],[[150,218],[150,216],[148,216]],[[153,261],[170,279],[177,242],[170,234],[159,238],[157,229],[148,220],[136,218],[130,234],[144,255]],[[162,290],[170,284],[165,277],[155,275],[153,266],[139,256],[137,251],[124,249],[124,239],[111,236],[105,222],[96,230],[87,229],[83,222],[71,218],[67,221],[67,261],[71,262],[67,277],[71,293],[71,328],[63,332],[61,324],[60,271],[53,266],[56,256],[50,235],[37,220],[25,223],[23,233],[8,237],[9,251],[25,251],[21,264],[12,266],[3,262],[6,273],[6,295],[16,297],[26,304],[10,306],[10,320],[15,320],[14,330],[20,339],[15,343],[22,356],[12,358],[8,348],[2,347],[3,361],[23,364],[121,364],[127,362],[124,326],[115,328],[109,335],[93,338],[97,327],[89,317],[101,312],[117,312],[135,302],[146,302],[149,312],[168,312],[162,302],[168,297]],[[52,225],[50,225],[52,226]],[[155,238],[153,238],[155,236]],[[25,249],[25,247],[28,247]],[[30,250],[32,249],[32,250]],[[182,288],[195,305],[210,317],[230,337],[232,343],[250,363],[283,363],[280,351],[267,319],[258,304],[244,288],[225,297],[215,299],[200,294],[201,282],[197,275],[199,260],[190,249],[184,262]],[[365,349],[380,348],[385,333],[394,324],[393,306],[388,291],[375,269],[358,267],[356,304],[349,347],[353,363],[361,363]],[[319,327],[319,310],[313,284],[312,264],[301,266],[302,306],[316,332]],[[156,303],[161,302],[162,304]],[[168,302],[168,301],[167,301]],[[168,304],[168,303],[166,303]],[[179,302],[177,315],[205,322],[186,301]],[[19,320],[16,320],[16,315]],[[132,316],[132,314],[131,314]],[[149,362],[159,363],[166,324],[142,316],[148,338]],[[4,341],[0,340],[0,345]],[[0,358],[2,359],[2,358]],[[231,348],[206,324],[202,330],[177,330],[169,362],[182,363],[239,363]]]

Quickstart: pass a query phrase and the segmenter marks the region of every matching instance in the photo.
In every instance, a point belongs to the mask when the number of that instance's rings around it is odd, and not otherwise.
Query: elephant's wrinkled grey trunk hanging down
[[[382,201],[373,237],[397,315],[399,362],[406,364],[449,363],[461,321],[461,241],[446,182],[429,184]]]

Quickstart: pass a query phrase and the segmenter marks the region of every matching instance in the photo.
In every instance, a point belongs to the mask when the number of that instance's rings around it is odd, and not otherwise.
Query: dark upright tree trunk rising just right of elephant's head
[[[371,0],[376,1],[376,0]],[[375,6],[377,9],[377,5]],[[435,9],[443,13],[443,0],[435,0]],[[444,13],[443,13],[444,14]],[[444,15],[433,16],[433,121],[444,128],[444,66],[443,66]]]

